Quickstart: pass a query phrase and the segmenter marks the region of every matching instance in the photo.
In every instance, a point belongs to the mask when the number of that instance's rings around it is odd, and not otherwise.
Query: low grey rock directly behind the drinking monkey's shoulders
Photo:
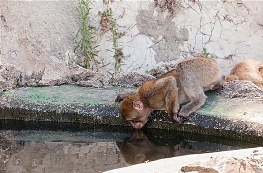
[[[149,81],[152,79],[156,79],[151,75],[141,75],[137,72],[129,73],[126,75],[120,75],[116,78],[111,78],[109,80],[110,85],[112,86],[120,86],[120,87],[139,87],[145,81]]]

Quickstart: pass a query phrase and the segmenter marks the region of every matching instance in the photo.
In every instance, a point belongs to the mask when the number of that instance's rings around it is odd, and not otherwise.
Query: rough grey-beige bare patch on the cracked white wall
[[[154,4],[150,4],[148,10],[139,10],[136,22],[140,34],[153,40],[151,47],[156,52],[157,62],[178,59],[180,44],[188,40],[188,31],[185,28],[175,27],[169,14],[155,8]]]

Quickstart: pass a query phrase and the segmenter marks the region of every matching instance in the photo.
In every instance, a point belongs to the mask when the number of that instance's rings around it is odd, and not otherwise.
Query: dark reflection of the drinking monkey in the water
[[[125,162],[129,164],[139,164],[147,160],[154,161],[188,154],[206,153],[206,151],[191,150],[191,145],[185,144],[180,139],[174,139],[171,145],[155,145],[148,140],[148,137],[141,130],[133,132],[129,139],[124,139],[121,144],[117,144],[125,158]]]

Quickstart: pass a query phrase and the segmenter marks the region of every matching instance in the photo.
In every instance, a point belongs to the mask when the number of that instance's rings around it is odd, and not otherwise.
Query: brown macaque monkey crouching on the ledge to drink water
[[[121,117],[136,129],[146,124],[153,110],[167,110],[173,123],[181,124],[183,118],[204,104],[207,98],[204,91],[220,88],[224,80],[214,60],[192,58],[179,62],[160,79],[144,82],[132,93],[119,94],[115,101],[123,100]],[[180,109],[183,103],[187,104]]]

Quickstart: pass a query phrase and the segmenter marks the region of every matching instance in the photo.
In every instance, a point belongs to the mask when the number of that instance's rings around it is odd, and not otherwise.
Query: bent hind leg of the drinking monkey
[[[178,116],[188,118],[192,112],[196,111],[204,104],[207,97],[199,87],[196,89],[192,88],[191,90],[185,89],[185,93],[191,101],[181,107]],[[182,121],[182,119],[180,119],[180,121]]]

